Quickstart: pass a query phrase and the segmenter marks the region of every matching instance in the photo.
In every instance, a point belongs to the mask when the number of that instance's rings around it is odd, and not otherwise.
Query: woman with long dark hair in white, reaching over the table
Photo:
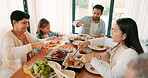
[[[95,70],[104,78],[122,78],[127,63],[138,54],[143,53],[139,43],[136,22],[131,18],[118,19],[111,30],[112,38],[98,38],[79,44],[79,48],[88,45],[105,45],[111,47],[108,50],[109,63],[90,55],[84,55],[81,61],[90,62]]]

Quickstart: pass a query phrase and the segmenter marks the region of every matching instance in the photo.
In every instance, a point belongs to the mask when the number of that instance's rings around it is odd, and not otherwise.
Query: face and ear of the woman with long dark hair
[[[121,43],[126,38],[126,34],[122,34],[119,26],[115,24],[111,30],[111,37],[113,39],[113,42]]]

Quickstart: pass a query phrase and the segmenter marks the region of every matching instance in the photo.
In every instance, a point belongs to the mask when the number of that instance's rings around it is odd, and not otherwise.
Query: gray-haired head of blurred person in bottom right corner
[[[134,78],[148,78],[148,53],[142,53],[132,59],[127,67],[135,71]]]

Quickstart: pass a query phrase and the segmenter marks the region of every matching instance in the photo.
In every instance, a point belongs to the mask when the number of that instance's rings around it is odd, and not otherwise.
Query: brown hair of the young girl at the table
[[[38,23],[38,28],[37,28],[37,34],[39,35],[39,38],[42,39],[43,32],[40,30],[40,28],[45,28],[46,25],[49,24],[49,21],[45,18],[40,19]]]

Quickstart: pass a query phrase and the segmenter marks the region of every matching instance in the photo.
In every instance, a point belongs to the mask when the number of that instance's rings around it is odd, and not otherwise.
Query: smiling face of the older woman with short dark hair
[[[13,24],[14,24],[14,30],[15,31],[19,31],[19,32],[21,32],[21,33],[24,33],[24,32],[26,32],[26,30],[27,30],[27,28],[28,28],[28,22],[29,22],[29,20],[28,19],[22,19],[22,20],[20,20],[20,21],[15,21],[15,20],[13,20]]]

